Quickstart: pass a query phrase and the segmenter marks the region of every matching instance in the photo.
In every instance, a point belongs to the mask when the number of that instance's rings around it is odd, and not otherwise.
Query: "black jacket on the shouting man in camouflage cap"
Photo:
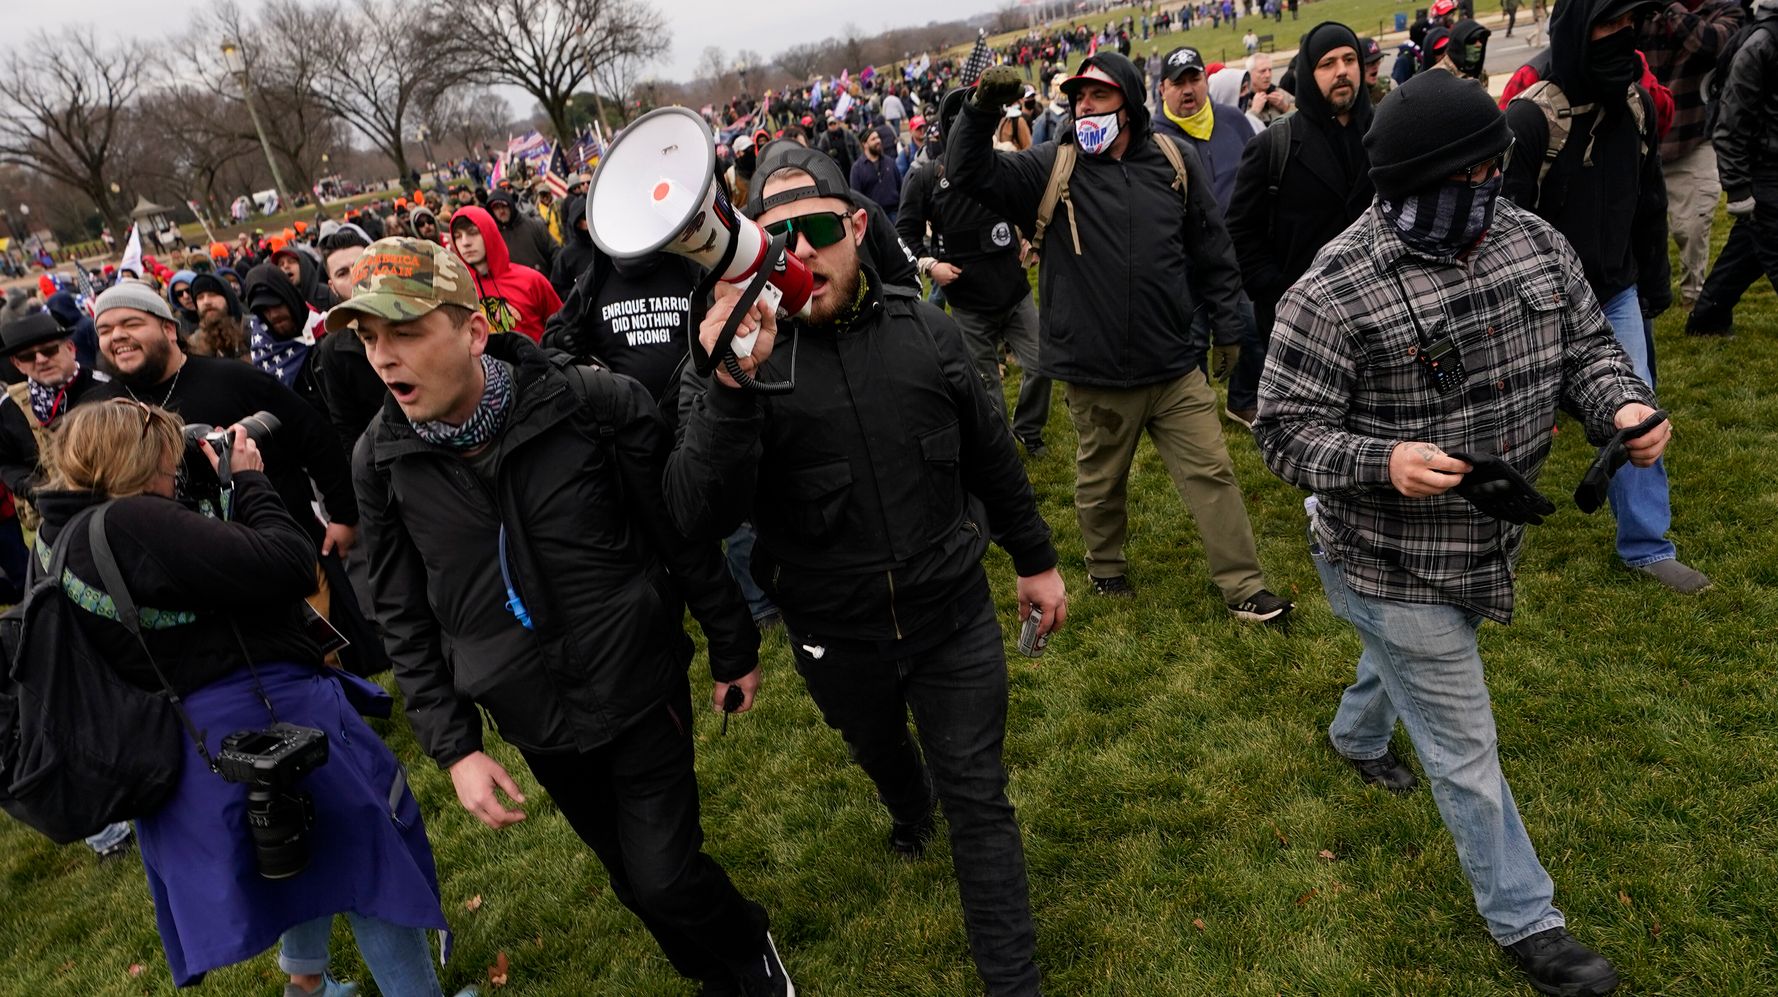
[[[669,441],[647,391],[590,370],[583,400],[569,380],[580,373],[530,339],[493,336],[487,350],[514,366],[516,391],[489,444],[493,487],[421,441],[393,398],[352,464],[377,620],[414,734],[441,768],[482,748],[477,704],[530,752],[610,741],[692,659],[685,602],[709,638],[713,677],[759,665],[759,631],[722,551],[686,542],[667,517]],[[507,610],[501,530],[535,629]]]

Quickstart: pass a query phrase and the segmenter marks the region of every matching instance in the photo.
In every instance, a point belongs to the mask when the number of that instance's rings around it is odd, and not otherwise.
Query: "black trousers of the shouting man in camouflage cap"
[[[727,985],[765,951],[766,912],[702,851],[690,707],[681,684],[610,745],[525,761],[674,969]]]

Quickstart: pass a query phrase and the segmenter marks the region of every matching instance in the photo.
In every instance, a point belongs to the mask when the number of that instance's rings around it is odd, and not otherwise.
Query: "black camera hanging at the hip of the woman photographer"
[[[315,798],[292,786],[327,764],[327,732],[295,723],[236,730],[222,738],[215,764],[217,775],[247,786],[247,833],[260,874],[288,880],[308,869]]]

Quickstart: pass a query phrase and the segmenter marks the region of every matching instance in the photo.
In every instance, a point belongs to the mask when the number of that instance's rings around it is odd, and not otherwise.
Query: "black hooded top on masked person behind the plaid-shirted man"
[[[1655,108],[1636,85],[1641,64],[1634,50],[1613,85],[1590,71],[1593,21],[1622,7],[1622,0],[1570,0],[1550,16],[1550,71],[1572,105],[1593,103],[1575,114],[1568,142],[1538,187],[1538,167],[1549,149],[1543,110],[1527,100],[1506,105],[1506,124],[1517,146],[1506,167],[1502,194],[1556,226],[1581,256],[1586,283],[1600,304],[1625,288],[1638,288],[1645,311],[1659,313],[1673,302],[1671,265],[1666,251],[1666,179],[1661,144],[1655,139]],[[1636,28],[1620,32],[1634,46]],[[1604,41],[1616,43],[1618,36]],[[1645,135],[1636,133],[1629,100],[1643,103]],[[1586,160],[1591,137],[1591,162]]]

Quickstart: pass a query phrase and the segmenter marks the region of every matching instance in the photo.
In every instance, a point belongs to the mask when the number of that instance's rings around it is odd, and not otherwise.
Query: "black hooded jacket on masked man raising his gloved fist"
[[[1150,137],[1141,75],[1115,53],[1088,62],[1120,76],[1129,148],[1122,160],[1083,155],[1074,164],[1069,195],[1081,252],[1074,252],[1061,204],[1044,233],[1037,370],[1067,384],[1159,384],[1202,366],[1209,343],[1191,334],[1198,307],[1211,309],[1216,343],[1241,341],[1241,275],[1209,172],[1184,144],[1189,211],[1181,203],[1173,167]],[[1033,231],[1056,146],[996,153],[990,142],[999,121],[997,110],[965,101],[944,139],[944,171],[989,210]]]

